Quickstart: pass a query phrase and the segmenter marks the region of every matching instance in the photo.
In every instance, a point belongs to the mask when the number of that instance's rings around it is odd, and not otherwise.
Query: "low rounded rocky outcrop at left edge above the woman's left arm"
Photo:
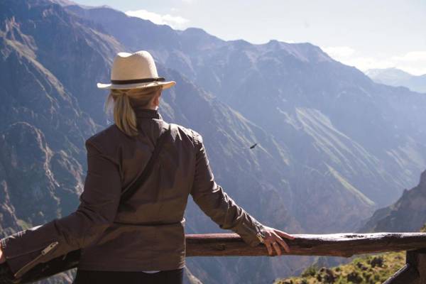
[[[65,151],[53,151],[27,122],[0,132],[0,237],[69,214],[82,191],[82,168]],[[71,283],[72,272],[44,283]]]

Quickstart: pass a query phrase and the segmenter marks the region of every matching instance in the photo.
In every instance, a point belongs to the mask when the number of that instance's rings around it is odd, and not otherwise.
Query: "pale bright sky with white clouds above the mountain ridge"
[[[74,0],[224,40],[309,42],[360,70],[426,74],[426,0]]]

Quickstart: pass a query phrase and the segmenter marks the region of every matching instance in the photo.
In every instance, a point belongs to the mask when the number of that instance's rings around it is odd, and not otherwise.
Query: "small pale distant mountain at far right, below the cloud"
[[[426,93],[426,74],[415,76],[397,68],[386,68],[367,70],[366,75],[374,82],[395,87],[408,87],[414,92]]]

